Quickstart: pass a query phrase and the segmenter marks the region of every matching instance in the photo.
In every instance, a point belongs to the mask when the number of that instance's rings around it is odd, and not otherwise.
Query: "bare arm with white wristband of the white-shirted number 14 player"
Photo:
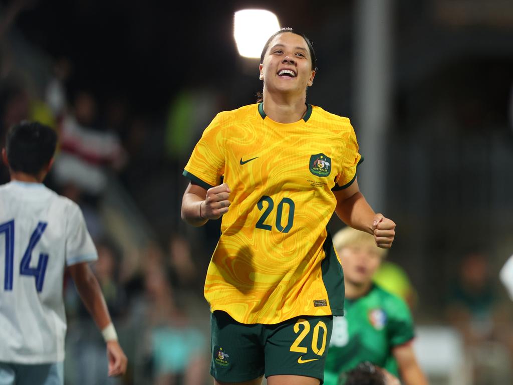
[[[121,349],[115,330],[112,326],[109,310],[102,294],[102,289],[87,262],[68,266],[82,302],[94,319],[94,322],[106,337],[107,358],[109,360],[109,376],[125,374],[127,357]]]

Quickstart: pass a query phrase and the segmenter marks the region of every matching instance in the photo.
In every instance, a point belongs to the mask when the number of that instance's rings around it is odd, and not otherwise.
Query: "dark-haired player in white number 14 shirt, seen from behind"
[[[56,141],[51,128],[23,122],[9,130],[2,150],[11,182],[0,186],[0,385],[63,383],[66,267],[106,340],[108,374],[126,371],[88,265],[97,254],[82,211],[42,183]]]

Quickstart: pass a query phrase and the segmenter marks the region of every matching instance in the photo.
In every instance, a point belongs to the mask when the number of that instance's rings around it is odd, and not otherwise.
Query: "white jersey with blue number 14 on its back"
[[[64,269],[95,259],[76,203],[39,183],[0,186],[0,361],[64,360]]]

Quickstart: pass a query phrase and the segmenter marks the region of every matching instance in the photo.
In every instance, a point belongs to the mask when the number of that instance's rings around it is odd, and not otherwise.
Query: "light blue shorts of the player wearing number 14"
[[[21,364],[0,362],[0,385],[63,385],[63,362]]]

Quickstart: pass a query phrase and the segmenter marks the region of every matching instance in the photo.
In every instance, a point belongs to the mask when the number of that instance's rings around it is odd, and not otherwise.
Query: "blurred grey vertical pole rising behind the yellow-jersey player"
[[[377,211],[385,210],[390,121],[393,0],[358,0],[355,17],[354,129],[365,162],[360,189]]]

